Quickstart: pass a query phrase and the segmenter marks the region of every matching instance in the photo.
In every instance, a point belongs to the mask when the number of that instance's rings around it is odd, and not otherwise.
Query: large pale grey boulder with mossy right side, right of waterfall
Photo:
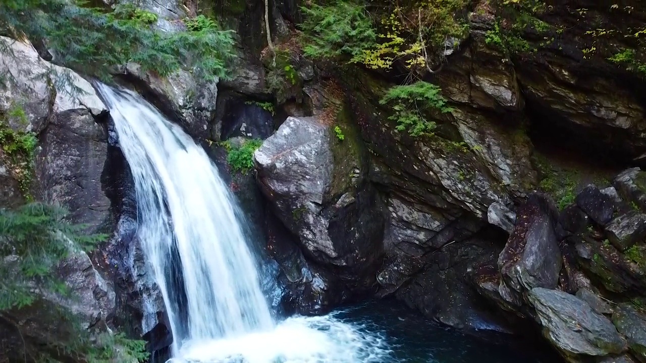
[[[335,269],[360,295],[375,285],[383,217],[365,172],[360,141],[339,140],[317,118],[287,118],[254,154],[258,182],[303,253]]]

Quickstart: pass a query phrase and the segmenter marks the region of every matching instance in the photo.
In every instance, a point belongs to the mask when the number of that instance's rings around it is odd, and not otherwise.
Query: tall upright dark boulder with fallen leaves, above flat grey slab
[[[544,194],[531,194],[516,214],[516,226],[498,258],[502,274],[500,293],[521,304],[524,291],[553,289],[561,271],[561,251],[556,240],[557,211]]]

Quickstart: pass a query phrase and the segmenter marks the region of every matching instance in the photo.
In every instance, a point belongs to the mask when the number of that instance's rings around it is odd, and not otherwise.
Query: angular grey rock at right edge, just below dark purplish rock
[[[630,211],[622,214],[605,227],[608,239],[620,251],[646,238],[646,214]]]

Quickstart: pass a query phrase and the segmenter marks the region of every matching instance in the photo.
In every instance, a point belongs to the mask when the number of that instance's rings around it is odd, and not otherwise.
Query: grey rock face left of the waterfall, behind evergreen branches
[[[136,256],[136,205],[128,194],[127,165],[114,132],[109,132],[107,108],[79,74],[41,59],[31,45],[6,37],[0,41],[12,50],[0,55],[0,69],[7,75],[0,92],[0,116],[7,117],[0,127],[37,137],[34,167],[28,171],[33,180],[22,172],[24,165],[16,165],[7,152],[11,145],[3,140],[0,207],[14,207],[27,198],[59,204],[70,211],[71,222],[86,225],[87,232],[111,234],[110,242],[90,256],[74,251],[59,265],[56,275],[78,299],[41,292],[32,307],[3,314],[2,357],[23,357],[15,349],[23,344],[16,342],[16,327],[27,351],[65,335],[69,326],[60,324],[60,316],[50,316],[51,311],[71,311],[93,331],[123,323],[134,337],[141,337],[163,325],[163,302],[145,274],[141,254]],[[71,81],[60,83],[58,77]],[[149,309],[154,311],[143,309],[144,296],[156,301]]]

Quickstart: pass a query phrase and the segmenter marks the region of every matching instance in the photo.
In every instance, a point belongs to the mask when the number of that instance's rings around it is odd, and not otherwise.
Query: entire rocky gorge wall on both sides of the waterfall
[[[168,31],[191,12],[161,3],[140,6]],[[269,1],[270,36],[286,55],[277,81],[260,1],[213,7],[238,36],[229,79],[160,77],[134,63],[114,78],[211,151],[278,264],[286,311],[390,296],[460,329],[542,334],[568,362],[646,362],[646,54],[640,37],[627,36],[646,26],[645,8],[563,1],[514,28],[504,6],[466,3],[468,32],[444,47],[440,70],[417,75],[451,108],[425,115],[437,124],[431,135],[397,130],[392,105],[380,102],[404,83],[402,65],[303,55],[298,1]],[[167,346],[105,105],[78,75],[89,93],[81,102],[32,83],[20,67],[59,66],[11,47],[24,65],[6,57],[0,66],[30,87],[0,92],[0,109],[27,100],[28,125],[8,126],[38,135],[34,196],[111,235],[61,276],[89,299],[89,325]],[[625,50],[630,59],[610,60]],[[251,169],[231,163],[231,150],[256,139],[264,141]],[[21,175],[3,155],[0,206],[13,207],[24,202]],[[81,272],[92,278],[73,277]],[[21,326],[39,319],[14,315]],[[38,324],[33,342],[48,339]],[[15,333],[6,337],[4,347],[16,344]]]

